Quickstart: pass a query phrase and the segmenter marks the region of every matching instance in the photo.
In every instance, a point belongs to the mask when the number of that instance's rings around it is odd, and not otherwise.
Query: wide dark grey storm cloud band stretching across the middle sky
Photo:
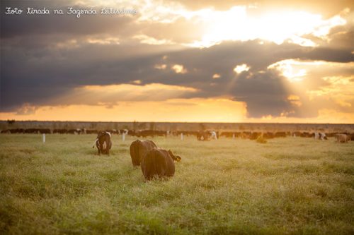
[[[156,51],[161,46],[140,47],[156,47]],[[23,103],[57,104],[59,97],[82,85],[141,80],[142,85],[162,83],[200,90],[186,94],[186,98],[231,96],[246,102],[249,115],[253,117],[279,115],[294,107],[286,100],[290,95],[284,84],[287,80],[276,71],[267,71],[267,67],[282,59],[324,59],[320,49],[303,49],[295,44],[259,44],[257,40],[131,58],[120,56],[120,52],[127,49],[125,45],[84,44],[73,49],[30,51],[6,48],[1,49],[6,55],[1,61],[4,68],[1,70],[3,111],[16,109]],[[336,56],[330,56],[330,61],[353,61],[350,52],[333,50],[331,54]],[[166,64],[166,69],[156,69],[156,64]],[[175,64],[183,65],[188,72],[175,73],[171,69]],[[236,75],[233,69],[238,64],[248,64],[251,68]],[[212,79],[215,73],[221,78]]]

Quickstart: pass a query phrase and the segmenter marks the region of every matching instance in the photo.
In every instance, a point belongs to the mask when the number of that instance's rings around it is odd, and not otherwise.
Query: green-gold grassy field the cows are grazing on
[[[0,135],[0,234],[353,234],[354,142],[154,138],[181,155],[145,183],[113,136]]]

